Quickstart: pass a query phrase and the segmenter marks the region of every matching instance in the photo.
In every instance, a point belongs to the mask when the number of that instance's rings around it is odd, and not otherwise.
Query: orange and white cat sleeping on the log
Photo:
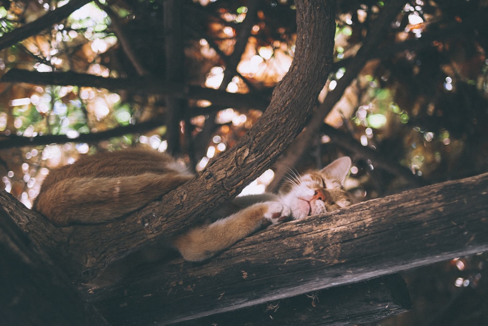
[[[173,246],[185,260],[201,261],[264,226],[348,206],[343,182],[350,166],[349,157],[341,157],[297,178],[287,192],[238,197],[215,213],[213,223],[176,237]],[[51,171],[34,209],[61,225],[103,223],[141,208],[192,177],[164,153],[98,153]],[[234,213],[222,215],[229,209]]]

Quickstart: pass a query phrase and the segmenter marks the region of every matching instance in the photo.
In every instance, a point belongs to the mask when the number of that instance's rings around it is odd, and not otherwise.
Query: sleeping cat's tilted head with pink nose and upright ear
[[[351,168],[351,159],[341,157],[320,171],[306,173],[292,181],[292,187],[281,195],[295,220],[351,205],[344,190],[344,180]]]

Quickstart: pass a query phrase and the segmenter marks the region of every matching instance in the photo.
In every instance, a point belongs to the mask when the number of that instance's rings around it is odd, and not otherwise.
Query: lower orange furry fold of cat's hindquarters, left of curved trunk
[[[61,225],[101,223],[135,211],[191,178],[189,174],[143,173],[61,180],[39,194],[34,209]]]

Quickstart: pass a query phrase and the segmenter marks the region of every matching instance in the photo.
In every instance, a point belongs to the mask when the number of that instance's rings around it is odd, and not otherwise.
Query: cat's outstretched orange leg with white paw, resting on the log
[[[212,224],[177,236],[173,246],[185,260],[202,261],[265,226],[284,222],[289,216],[290,209],[280,202],[254,204]]]

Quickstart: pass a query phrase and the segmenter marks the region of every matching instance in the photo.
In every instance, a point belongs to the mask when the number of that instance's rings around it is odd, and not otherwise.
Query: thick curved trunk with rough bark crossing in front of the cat
[[[65,271],[82,281],[110,262],[195,224],[264,172],[301,132],[332,63],[335,33],[333,1],[296,1],[298,38],[295,59],[275,88],[261,119],[231,149],[210,162],[187,184],[120,221],[97,226],[56,228],[42,218],[19,225],[63,261]],[[300,87],[297,87],[300,85]],[[40,230],[49,230],[49,233]],[[83,272],[83,273],[81,273]]]

